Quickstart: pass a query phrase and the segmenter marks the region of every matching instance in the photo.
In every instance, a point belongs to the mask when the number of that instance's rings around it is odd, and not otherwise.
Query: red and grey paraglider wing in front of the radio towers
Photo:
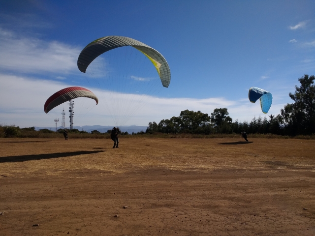
[[[98,104],[98,98],[89,89],[81,87],[69,87],[51,95],[45,102],[44,111],[45,113],[48,113],[50,110],[57,107],[58,105],[77,97],[92,98],[96,101],[96,105]]]

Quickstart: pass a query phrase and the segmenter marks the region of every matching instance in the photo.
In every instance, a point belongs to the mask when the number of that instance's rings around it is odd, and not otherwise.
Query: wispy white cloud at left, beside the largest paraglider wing
[[[76,72],[78,48],[57,41],[19,37],[0,29],[0,69],[23,73]]]

